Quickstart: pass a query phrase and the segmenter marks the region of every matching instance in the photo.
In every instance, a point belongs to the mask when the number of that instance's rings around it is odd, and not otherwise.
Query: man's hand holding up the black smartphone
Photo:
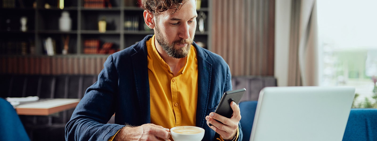
[[[223,139],[232,139],[237,133],[238,123],[241,120],[241,112],[239,107],[235,102],[230,103],[230,107],[233,109],[233,115],[231,118],[226,118],[222,115],[211,112],[210,115],[205,117],[207,120],[207,125],[211,123],[213,126],[209,126],[211,129],[215,130],[216,133],[220,134]],[[218,121],[222,122],[219,123]]]

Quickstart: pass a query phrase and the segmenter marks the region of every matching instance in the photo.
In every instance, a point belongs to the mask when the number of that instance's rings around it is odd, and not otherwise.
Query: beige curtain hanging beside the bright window
[[[316,0],[292,0],[288,86],[318,85]]]

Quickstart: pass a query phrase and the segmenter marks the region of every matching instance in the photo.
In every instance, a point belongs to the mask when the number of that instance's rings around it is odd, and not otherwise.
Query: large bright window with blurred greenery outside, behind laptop
[[[377,108],[377,1],[317,0],[319,84],[354,86],[353,107]]]

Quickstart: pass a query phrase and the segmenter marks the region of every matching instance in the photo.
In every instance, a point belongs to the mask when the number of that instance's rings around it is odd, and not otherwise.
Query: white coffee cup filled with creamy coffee
[[[170,129],[174,141],[201,141],[205,130],[196,126],[177,126]]]

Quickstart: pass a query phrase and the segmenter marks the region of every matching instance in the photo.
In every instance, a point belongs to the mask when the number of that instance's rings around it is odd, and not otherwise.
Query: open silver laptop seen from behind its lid
[[[266,87],[250,141],[342,141],[353,87]]]

